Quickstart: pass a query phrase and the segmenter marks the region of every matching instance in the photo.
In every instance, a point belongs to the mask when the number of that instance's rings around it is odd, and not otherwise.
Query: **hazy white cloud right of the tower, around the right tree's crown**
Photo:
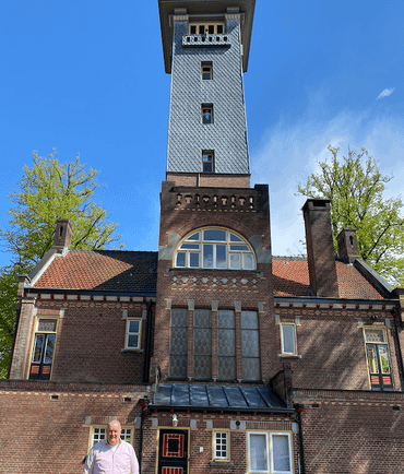
[[[318,162],[329,159],[328,145],[359,151],[361,146],[380,161],[383,174],[394,176],[389,194],[404,194],[404,120],[401,117],[380,117],[371,108],[363,111],[345,110],[332,115],[326,99],[319,112],[319,97],[309,97],[307,111],[294,123],[280,120],[266,130],[265,140],[251,150],[251,181],[270,186],[273,254],[305,252],[299,244],[305,239],[301,206],[305,198],[295,195],[297,185],[306,183]],[[321,97],[320,97],[321,98]],[[329,114],[330,111],[330,114]]]

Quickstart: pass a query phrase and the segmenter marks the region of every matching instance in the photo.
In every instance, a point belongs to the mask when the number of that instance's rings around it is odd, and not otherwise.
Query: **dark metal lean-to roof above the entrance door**
[[[285,401],[269,387],[263,386],[161,383],[150,406],[257,412],[287,411]]]

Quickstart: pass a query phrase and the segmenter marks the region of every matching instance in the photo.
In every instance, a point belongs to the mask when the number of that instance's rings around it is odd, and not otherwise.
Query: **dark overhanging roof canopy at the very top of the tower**
[[[164,66],[168,74],[171,72],[173,24],[170,15],[174,15],[174,10],[187,9],[188,15],[191,17],[198,15],[198,21],[203,21],[204,17],[209,20],[214,15],[223,17],[228,7],[238,7],[240,13],[243,14],[243,22],[241,22],[242,70],[247,71],[256,0],[158,0]]]

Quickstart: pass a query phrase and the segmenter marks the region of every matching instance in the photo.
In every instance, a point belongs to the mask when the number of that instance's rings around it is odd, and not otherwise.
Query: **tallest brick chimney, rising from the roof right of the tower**
[[[335,256],[332,240],[330,203],[308,199],[302,208],[306,227],[310,289],[317,296],[338,297]]]

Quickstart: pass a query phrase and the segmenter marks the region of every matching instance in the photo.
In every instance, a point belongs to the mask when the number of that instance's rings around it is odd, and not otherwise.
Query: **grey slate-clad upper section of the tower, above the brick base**
[[[242,73],[254,0],[161,0],[171,74],[167,181],[249,186]]]

